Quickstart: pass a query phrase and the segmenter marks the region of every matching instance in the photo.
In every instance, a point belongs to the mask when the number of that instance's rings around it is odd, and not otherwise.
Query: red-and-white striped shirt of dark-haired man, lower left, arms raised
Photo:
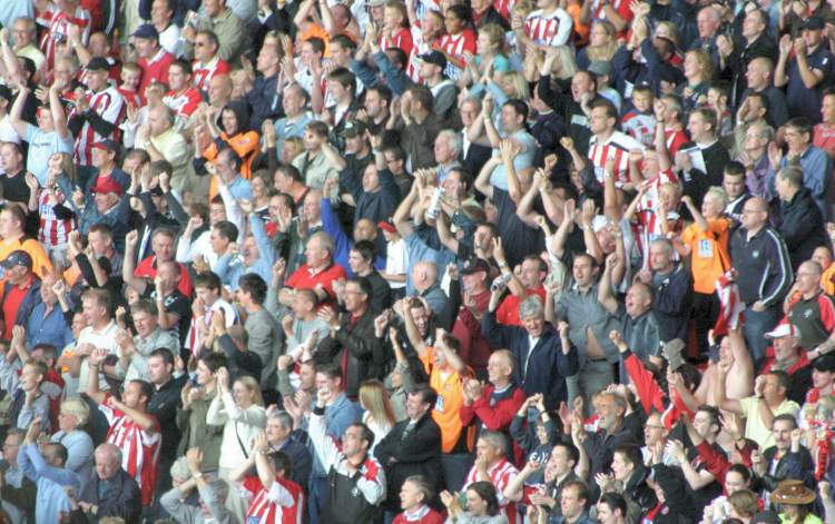
[[[146,432],[119,409],[105,404],[99,405],[99,409],[110,424],[106,442],[121,449],[121,468],[139,484],[143,505],[149,505],[154,501],[154,487],[157,483],[157,466],[159,465],[159,444],[163,441],[159,434],[159,423],[155,419],[156,427]]]

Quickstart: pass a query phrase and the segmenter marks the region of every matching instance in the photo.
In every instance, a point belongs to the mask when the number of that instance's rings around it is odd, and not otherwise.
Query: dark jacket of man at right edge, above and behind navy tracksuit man
[[[800,187],[792,200],[782,200],[780,211],[783,221],[778,229],[786,243],[792,268],[797,270],[802,263],[812,258],[817,247],[829,245],[829,237],[824,229],[821,209],[805,187]]]

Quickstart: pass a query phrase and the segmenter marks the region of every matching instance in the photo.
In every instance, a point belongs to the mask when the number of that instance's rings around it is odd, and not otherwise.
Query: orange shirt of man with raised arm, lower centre
[[[452,369],[449,373],[436,369],[434,366],[435,349],[433,347],[426,348],[421,362],[429,375],[430,387],[438,393],[438,402],[432,409],[432,419],[441,428],[441,451],[450,453],[461,438],[463,425],[459,412],[464,407],[464,378],[472,376],[472,374],[469,368],[464,377]],[[472,437],[473,435],[468,435],[469,446],[472,445],[470,442]]]

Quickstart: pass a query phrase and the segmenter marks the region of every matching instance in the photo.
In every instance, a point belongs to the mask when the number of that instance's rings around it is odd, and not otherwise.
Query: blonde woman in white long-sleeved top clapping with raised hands
[[[229,389],[229,372],[222,367],[215,375],[218,395],[209,404],[206,423],[224,426],[218,476],[229,481],[235,466],[249,458],[253,438],[266,427],[267,412],[255,378],[238,377]],[[243,520],[246,502],[233,492],[229,491],[226,506]]]

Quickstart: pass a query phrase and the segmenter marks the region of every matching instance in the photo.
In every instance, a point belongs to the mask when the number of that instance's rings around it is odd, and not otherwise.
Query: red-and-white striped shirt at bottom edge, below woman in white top
[[[302,524],[304,521],[304,490],[293,481],[275,477],[269,490],[256,475],[244,479],[244,488],[252,494],[246,511],[246,524]]]

